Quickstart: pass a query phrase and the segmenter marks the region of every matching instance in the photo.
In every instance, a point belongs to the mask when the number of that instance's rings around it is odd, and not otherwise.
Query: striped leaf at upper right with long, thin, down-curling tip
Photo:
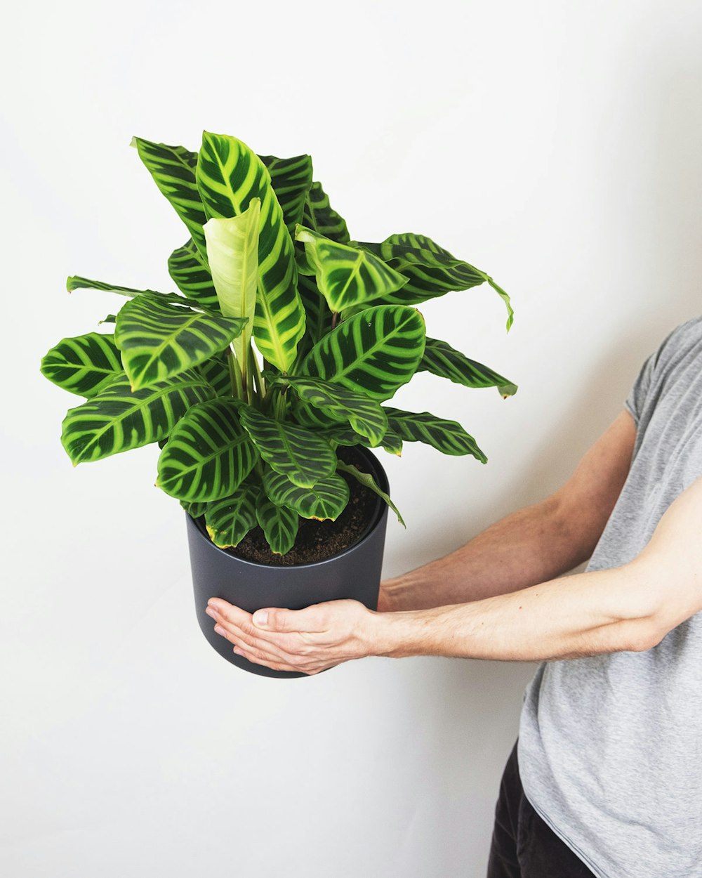
[[[380,256],[390,268],[409,278],[409,283],[402,289],[378,299],[379,302],[419,305],[427,299],[434,299],[451,291],[469,290],[487,281],[505,302],[507,329],[512,326],[514,312],[507,293],[484,271],[456,259],[426,235],[392,234],[380,244],[364,241],[353,243]]]

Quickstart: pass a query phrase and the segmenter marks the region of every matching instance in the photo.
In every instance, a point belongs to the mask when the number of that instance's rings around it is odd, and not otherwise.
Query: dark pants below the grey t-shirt
[[[595,878],[528,802],[516,744],[499,788],[488,878]]]

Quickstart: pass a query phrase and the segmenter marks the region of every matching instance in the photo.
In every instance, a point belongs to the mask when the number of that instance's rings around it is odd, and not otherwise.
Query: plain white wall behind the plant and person
[[[567,478],[642,360],[699,310],[702,7],[694,0],[15,5],[4,18],[0,871],[12,878],[479,878],[533,666],[366,659],[235,670],[197,629],[183,512],[153,447],[73,469],[77,403],[39,375],[171,289],[188,237],[129,141],[309,152],[351,234],[431,235],[512,293],[422,308],[519,384],[419,376],[490,462],[383,455],[406,531],[385,573]]]

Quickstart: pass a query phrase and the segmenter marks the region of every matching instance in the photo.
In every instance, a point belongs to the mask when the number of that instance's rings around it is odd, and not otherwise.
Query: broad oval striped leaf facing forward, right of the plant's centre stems
[[[300,371],[370,399],[390,399],[417,371],[424,343],[419,311],[395,305],[366,308],[325,335]]]

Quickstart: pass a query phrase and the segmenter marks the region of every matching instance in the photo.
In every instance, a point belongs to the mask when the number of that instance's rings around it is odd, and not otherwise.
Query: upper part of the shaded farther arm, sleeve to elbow
[[[636,426],[625,409],[591,446],[555,500],[562,527],[590,558],[627,480],[634,454]]]

